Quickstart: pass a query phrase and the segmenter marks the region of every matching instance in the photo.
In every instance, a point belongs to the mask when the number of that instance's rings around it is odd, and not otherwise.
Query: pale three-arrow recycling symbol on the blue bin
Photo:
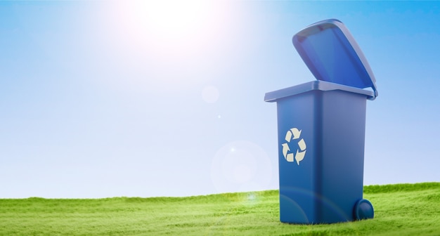
[[[286,159],[287,162],[293,162],[294,158],[297,160],[297,164],[299,165],[299,162],[304,159],[304,156],[306,155],[306,142],[304,142],[304,138],[299,139],[301,136],[301,131],[297,128],[292,128],[287,131],[285,134],[285,140],[287,143],[283,143],[283,156],[284,159]],[[289,143],[290,141],[296,141],[298,140],[298,149],[295,155],[293,152],[290,152]],[[294,143],[294,142],[292,142]]]

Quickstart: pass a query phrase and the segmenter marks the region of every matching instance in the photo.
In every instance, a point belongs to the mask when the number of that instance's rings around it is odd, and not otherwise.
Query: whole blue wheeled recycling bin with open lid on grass
[[[280,221],[337,223],[373,218],[363,199],[366,101],[373,72],[347,28],[323,20],[292,39],[318,79],[266,93],[276,102]]]

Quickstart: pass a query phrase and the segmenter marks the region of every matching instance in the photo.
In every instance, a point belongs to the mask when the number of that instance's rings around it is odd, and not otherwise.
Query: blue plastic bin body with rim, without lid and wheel
[[[354,221],[363,195],[365,106],[371,96],[325,81],[266,93],[266,101],[277,103],[281,222]],[[297,137],[287,134],[295,128]],[[293,162],[285,157],[285,143]],[[299,162],[297,152],[304,152]]]

